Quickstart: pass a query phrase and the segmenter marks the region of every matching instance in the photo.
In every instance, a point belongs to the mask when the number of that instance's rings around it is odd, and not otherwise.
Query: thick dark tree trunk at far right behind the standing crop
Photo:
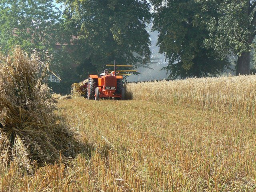
[[[250,52],[242,52],[237,58],[236,75],[250,74]]]

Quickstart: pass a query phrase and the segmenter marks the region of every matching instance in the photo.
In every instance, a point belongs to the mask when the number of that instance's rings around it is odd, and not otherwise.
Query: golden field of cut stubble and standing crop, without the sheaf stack
[[[255,76],[127,84],[133,100],[58,100],[83,153],[2,168],[1,191],[255,191]]]

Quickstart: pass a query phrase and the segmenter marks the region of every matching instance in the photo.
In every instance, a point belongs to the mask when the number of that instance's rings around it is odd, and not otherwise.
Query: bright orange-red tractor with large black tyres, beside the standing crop
[[[90,75],[87,84],[87,98],[99,100],[100,98],[114,98],[124,100],[123,76],[106,74],[102,77]]]

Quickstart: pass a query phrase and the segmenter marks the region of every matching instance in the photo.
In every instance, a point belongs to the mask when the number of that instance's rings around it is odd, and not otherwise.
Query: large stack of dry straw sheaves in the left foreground
[[[50,163],[74,156],[73,133],[54,114],[49,88],[42,84],[36,54],[15,48],[0,56],[0,162],[32,170],[34,161]],[[60,154],[60,150],[62,151]]]

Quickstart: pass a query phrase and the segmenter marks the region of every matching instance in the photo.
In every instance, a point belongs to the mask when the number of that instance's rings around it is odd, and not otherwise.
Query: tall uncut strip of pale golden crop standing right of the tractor
[[[128,97],[134,100],[255,115],[256,75],[128,83],[126,90]]]

